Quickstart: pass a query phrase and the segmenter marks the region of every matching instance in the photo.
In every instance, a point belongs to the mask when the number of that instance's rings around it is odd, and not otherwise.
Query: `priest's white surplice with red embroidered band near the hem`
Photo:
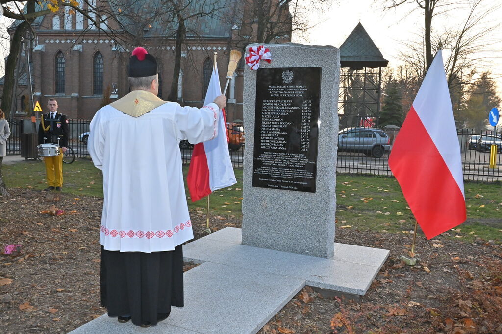
[[[198,109],[167,102],[139,117],[111,105],[97,111],[88,150],[103,171],[105,250],[174,250],[193,238],[179,142],[213,139],[218,117],[214,103]]]

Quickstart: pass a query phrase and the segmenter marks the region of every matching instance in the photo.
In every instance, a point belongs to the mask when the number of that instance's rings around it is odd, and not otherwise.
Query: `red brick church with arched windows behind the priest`
[[[86,11],[87,3],[96,6],[95,1],[80,0],[81,8]],[[218,1],[215,0],[216,3]],[[109,5],[112,2],[106,3]],[[29,42],[30,48],[26,50],[30,57],[34,99],[40,101],[42,109],[45,111],[48,99],[55,98],[59,111],[70,119],[91,119],[100,106],[128,94],[127,65],[135,46],[144,46],[156,57],[159,64],[159,97],[167,100],[173,77],[175,38],[173,34],[165,35],[166,31],[176,30],[177,23],[152,19],[153,9],[149,6],[154,3],[151,0],[137,1],[129,9],[132,11],[136,8],[136,18],[110,5],[102,12],[106,14],[100,14],[101,17],[97,18],[99,27],[83,14],[73,13],[68,8],[38,17],[33,23],[36,37]],[[231,6],[221,8],[217,15],[187,21],[191,30],[181,48],[177,92],[177,101],[182,105],[202,106],[213,68],[214,52],[217,52],[220,83],[222,89],[224,87],[229,51],[243,34],[232,20],[228,20],[231,11],[240,2],[230,0],[228,3]],[[43,10],[40,6],[44,5],[37,6],[37,11]],[[142,13],[148,20],[141,17]],[[88,15],[96,18],[96,14],[90,11]],[[14,22],[9,29],[11,37],[18,24]],[[290,39],[290,36],[285,35],[274,42],[289,42]],[[20,58],[16,112],[31,109],[28,85],[30,71],[26,71],[26,56],[26,52],[23,52]],[[227,93],[228,121],[242,120],[244,70],[248,69],[247,66],[244,68],[241,60]],[[0,79],[0,90],[3,89],[3,83],[4,78]]]

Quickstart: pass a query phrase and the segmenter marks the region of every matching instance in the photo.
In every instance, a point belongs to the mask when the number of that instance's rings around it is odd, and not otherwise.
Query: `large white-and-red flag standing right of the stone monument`
[[[389,167],[427,239],[465,221],[460,145],[441,50],[396,137]]]

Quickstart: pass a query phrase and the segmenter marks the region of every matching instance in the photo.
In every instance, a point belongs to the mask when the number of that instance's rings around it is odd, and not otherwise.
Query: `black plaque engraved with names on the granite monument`
[[[315,192],[321,68],[257,72],[253,186]]]

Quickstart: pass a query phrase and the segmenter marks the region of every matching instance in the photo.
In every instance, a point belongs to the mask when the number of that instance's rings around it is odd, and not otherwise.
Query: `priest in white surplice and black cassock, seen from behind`
[[[159,99],[157,62],[143,48],[130,58],[129,85],[97,111],[87,148],[103,171],[101,303],[119,322],[148,327],[183,306],[182,243],[193,232],[179,142],[217,136],[226,98],[200,109]]]

